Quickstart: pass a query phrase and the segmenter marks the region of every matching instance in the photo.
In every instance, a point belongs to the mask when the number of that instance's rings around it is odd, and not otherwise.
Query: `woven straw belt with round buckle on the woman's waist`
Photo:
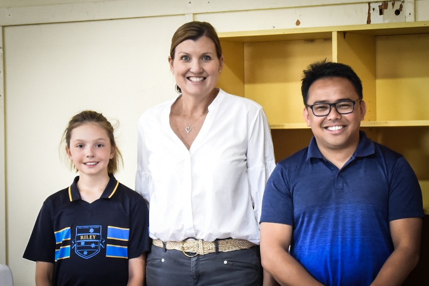
[[[162,240],[160,239],[154,239],[153,245],[158,247],[164,247]],[[234,239],[234,238],[227,238],[227,239],[219,239],[216,240],[219,252],[228,252],[228,251],[234,251],[234,250],[240,250],[240,249],[249,249],[256,244],[251,243],[248,240],[245,239]],[[185,254],[188,257],[194,257],[196,255],[205,255],[209,253],[216,252],[216,246],[213,241],[205,241],[202,239],[185,239],[184,241],[165,241],[165,248],[166,249],[174,249],[182,251],[183,254]],[[194,253],[194,255],[188,255],[189,253]]]

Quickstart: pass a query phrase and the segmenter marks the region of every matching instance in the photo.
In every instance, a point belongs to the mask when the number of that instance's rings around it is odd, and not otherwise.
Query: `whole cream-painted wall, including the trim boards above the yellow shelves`
[[[218,32],[294,28],[297,19],[300,27],[365,24],[368,12],[368,2],[351,0],[190,2],[0,2],[0,263],[11,267],[15,285],[34,285],[35,264],[22,253],[35,218],[75,176],[58,152],[71,116],[89,108],[119,121],[124,168],[116,177],[134,187],[137,119],[176,96],[167,56],[182,23],[206,20]],[[429,0],[406,2],[411,19],[429,19]],[[372,15],[372,22],[409,20]]]

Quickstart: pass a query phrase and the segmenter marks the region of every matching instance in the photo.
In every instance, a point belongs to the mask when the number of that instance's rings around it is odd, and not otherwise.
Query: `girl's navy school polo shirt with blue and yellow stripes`
[[[23,257],[54,263],[54,286],[125,286],[128,259],[149,251],[147,205],[112,175],[88,203],[78,181],[44,201]]]

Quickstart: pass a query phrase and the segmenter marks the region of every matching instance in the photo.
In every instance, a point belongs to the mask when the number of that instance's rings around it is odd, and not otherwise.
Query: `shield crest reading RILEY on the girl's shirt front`
[[[97,255],[101,247],[105,247],[104,243],[101,225],[77,226],[72,248],[75,249],[77,255],[88,259]]]

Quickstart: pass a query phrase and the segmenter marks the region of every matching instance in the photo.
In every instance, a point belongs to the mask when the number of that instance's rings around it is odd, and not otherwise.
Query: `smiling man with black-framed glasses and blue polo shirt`
[[[422,192],[405,158],[360,131],[359,77],[304,71],[310,145],[277,164],[263,196],[262,265],[280,285],[400,286],[419,260]]]

